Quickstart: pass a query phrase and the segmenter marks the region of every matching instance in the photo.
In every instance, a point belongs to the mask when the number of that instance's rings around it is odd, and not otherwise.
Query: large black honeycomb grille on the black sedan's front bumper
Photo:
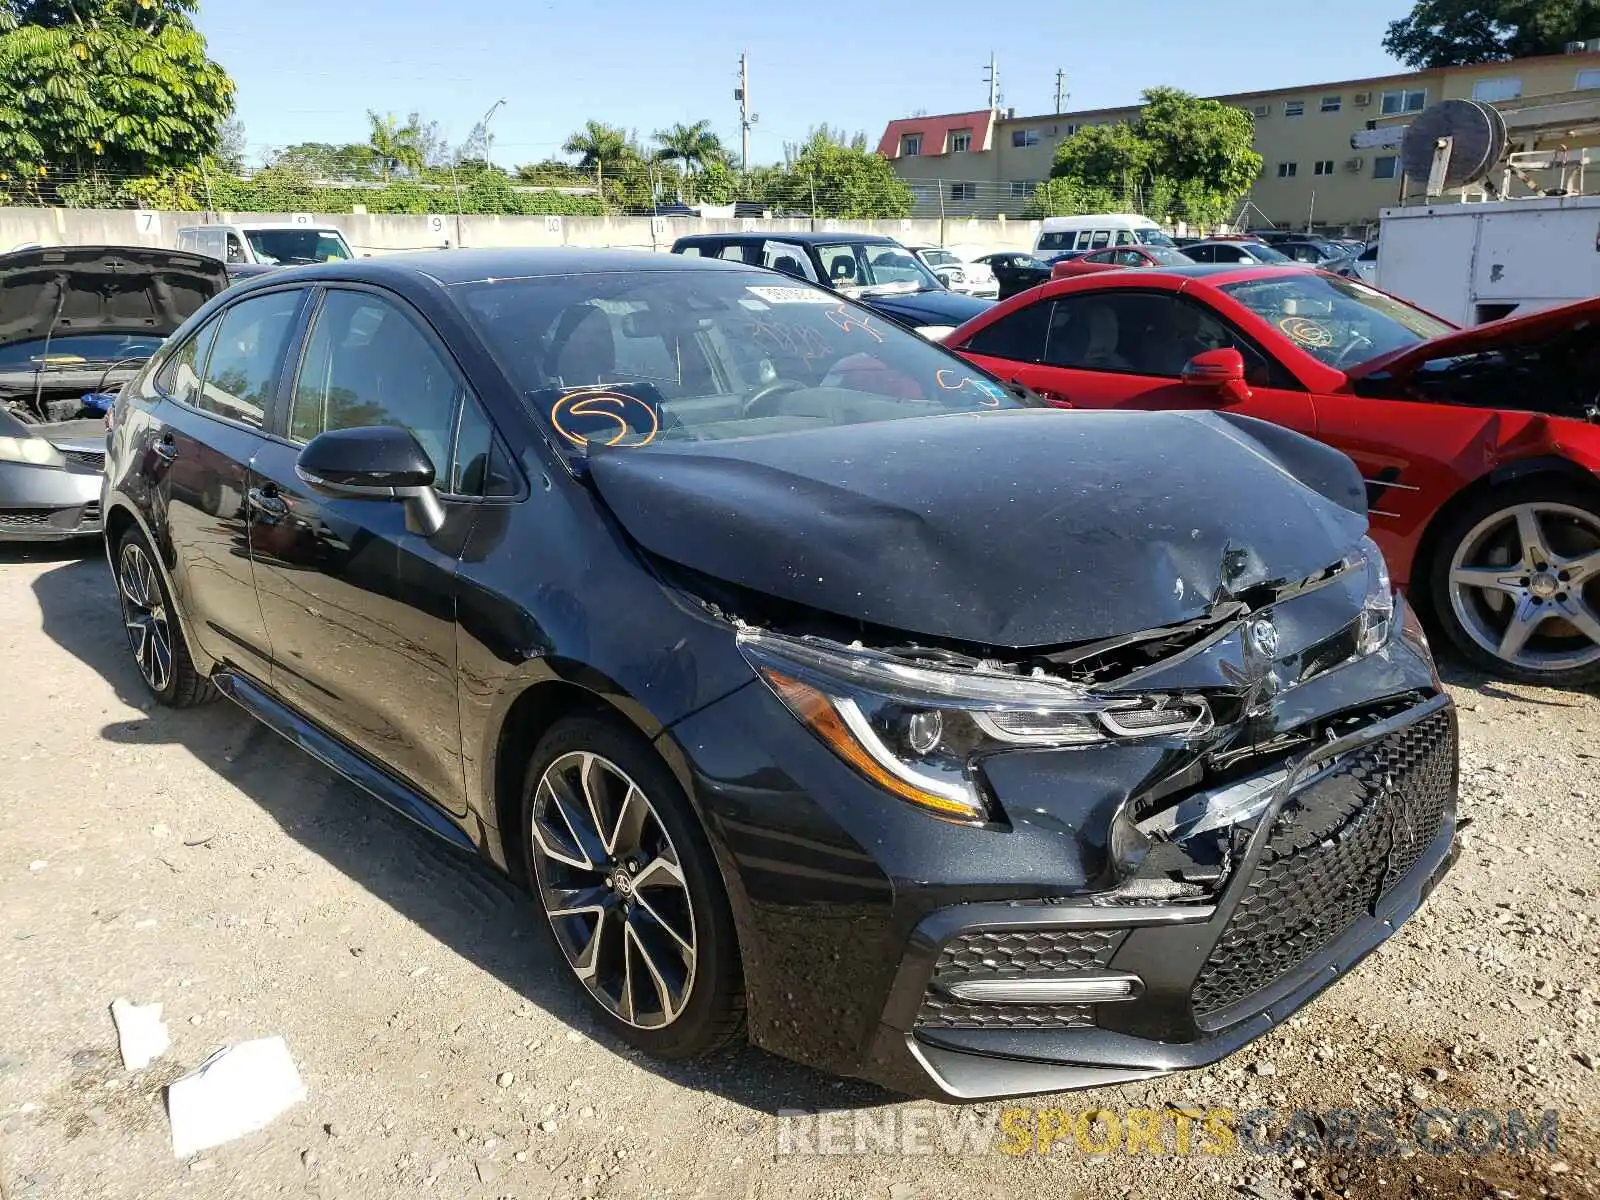
[[[1437,712],[1355,750],[1278,813],[1194,987],[1203,1019],[1322,950],[1405,877],[1451,803],[1456,746]]]

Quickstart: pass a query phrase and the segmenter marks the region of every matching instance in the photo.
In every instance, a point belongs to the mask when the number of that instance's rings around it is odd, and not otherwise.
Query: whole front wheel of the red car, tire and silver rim
[[[1600,498],[1531,480],[1469,504],[1440,531],[1432,600],[1475,666],[1571,686],[1600,678]]]

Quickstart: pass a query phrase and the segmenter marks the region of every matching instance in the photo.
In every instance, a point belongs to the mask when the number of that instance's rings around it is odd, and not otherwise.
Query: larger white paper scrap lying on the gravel
[[[166,1090],[173,1157],[264,1130],[302,1099],[306,1085],[282,1037],[224,1046]]]

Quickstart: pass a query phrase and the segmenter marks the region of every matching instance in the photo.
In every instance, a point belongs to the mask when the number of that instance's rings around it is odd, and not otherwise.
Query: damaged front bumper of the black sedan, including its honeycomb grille
[[[1363,646],[1363,587],[1056,653],[1098,691],[1203,693],[1214,730],[992,755],[981,826],[886,797],[758,683],[678,723],[752,1040],[973,1101],[1200,1067],[1336,982],[1456,856],[1454,709],[1403,602]]]

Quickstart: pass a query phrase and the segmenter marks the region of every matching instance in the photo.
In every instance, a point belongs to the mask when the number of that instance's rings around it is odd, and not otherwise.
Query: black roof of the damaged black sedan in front
[[[320,262],[290,267],[296,280],[355,280],[394,283],[427,278],[445,286],[477,283],[493,278],[530,278],[544,275],[582,275],[619,270],[760,270],[746,262],[714,258],[658,254],[650,250],[594,250],[589,246],[496,248],[496,250],[421,250],[376,258]],[[261,282],[285,278],[285,272],[262,275]]]

